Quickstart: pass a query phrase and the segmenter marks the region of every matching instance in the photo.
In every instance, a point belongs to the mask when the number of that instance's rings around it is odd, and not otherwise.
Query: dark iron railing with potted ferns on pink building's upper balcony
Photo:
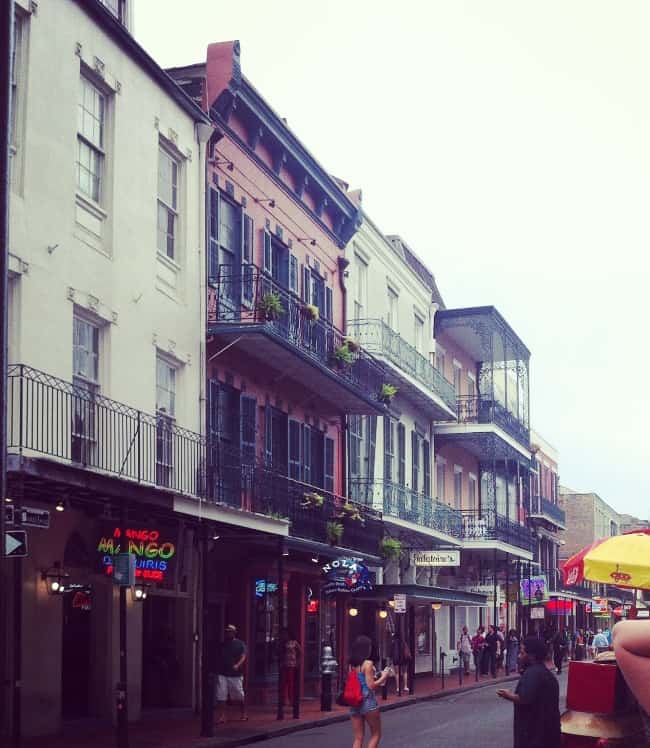
[[[275,305],[275,309],[271,305]],[[337,378],[379,399],[385,372],[362,348],[346,345],[346,336],[324,319],[310,318],[304,302],[255,265],[220,265],[208,294],[208,327],[263,325],[266,332],[294,346]],[[352,350],[354,348],[355,350]]]

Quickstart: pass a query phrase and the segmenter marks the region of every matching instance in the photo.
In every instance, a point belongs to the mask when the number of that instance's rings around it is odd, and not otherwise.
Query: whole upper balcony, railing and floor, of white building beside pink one
[[[436,420],[452,420],[456,391],[431,362],[380,319],[355,319],[348,322],[352,337],[370,353],[393,364],[400,389],[415,398]]]

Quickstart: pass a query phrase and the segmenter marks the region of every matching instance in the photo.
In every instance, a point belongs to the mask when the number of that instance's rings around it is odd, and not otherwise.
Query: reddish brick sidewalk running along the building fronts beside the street
[[[382,711],[396,709],[418,701],[441,698],[445,695],[459,691],[483,688],[495,683],[504,683],[517,678],[516,675],[501,676],[496,679],[489,676],[481,676],[478,683],[474,674],[463,679],[459,686],[458,676],[446,676],[445,688],[439,677],[418,678],[415,683],[415,695],[397,696],[390,693],[388,699],[383,701],[381,692],[378,692],[378,700]],[[233,719],[236,719],[237,710],[233,710]],[[150,715],[140,722],[129,725],[129,748],[234,748],[234,746],[255,743],[271,737],[279,737],[298,730],[307,730],[311,727],[319,727],[341,722],[348,719],[348,710],[345,707],[333,705],[331,712],[321,712],[318,699],[303,701],[300,705],[300,718],[291,717],[291,709],[285,709],[285,719],[276,719],[276,707],[252,706],[248,710],[247,722],[233,721],[226,725],[215,727],[214,737],[200,738],[200,718],[188,716],[183,712],[176,718],[168,716],[168,712],[161,712],[160,719],[154,719]],[[162,718],[165,715],[164,719]],[[66,733],[57,736],[44,736],[39,738],[24,738],[22,745],[25,748],[115,748],[115,732],[108,727],[89,729],[84,732]]]

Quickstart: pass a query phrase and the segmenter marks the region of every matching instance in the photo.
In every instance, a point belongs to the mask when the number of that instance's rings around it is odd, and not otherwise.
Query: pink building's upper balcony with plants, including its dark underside
[[[208,331],[239,343],[260,364],[290,372],[337,411],[383,413],[384,367],[350,343],[319,310],[313,319],[301,299],[254,265],[220,265],[208,291]],[[387,382],[388,383],[388,382]]]

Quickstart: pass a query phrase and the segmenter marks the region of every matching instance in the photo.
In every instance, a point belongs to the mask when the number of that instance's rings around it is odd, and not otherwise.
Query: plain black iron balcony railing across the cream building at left
[[[9,367],[7,445],[180,494],[204,493],[199,434],[24,364]]]

